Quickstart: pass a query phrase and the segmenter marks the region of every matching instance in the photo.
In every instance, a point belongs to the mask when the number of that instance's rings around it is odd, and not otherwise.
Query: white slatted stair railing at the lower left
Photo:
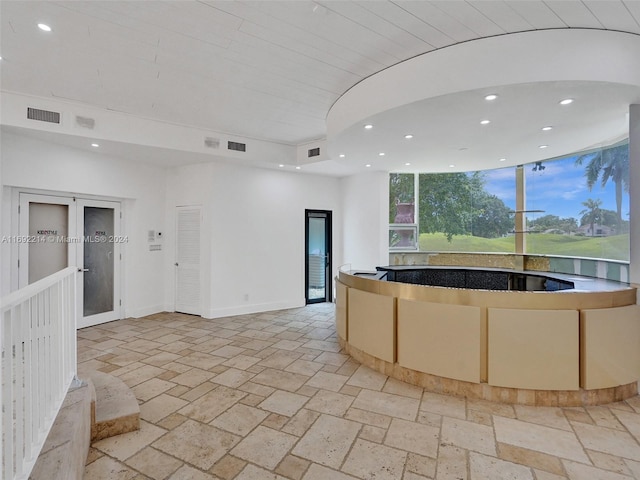
[[[29,478],[76,376],[76,291],[68,267],[0,301],[0,478]]]

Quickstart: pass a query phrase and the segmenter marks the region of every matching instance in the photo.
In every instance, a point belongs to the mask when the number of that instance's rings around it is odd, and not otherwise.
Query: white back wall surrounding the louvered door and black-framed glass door
[[[305,209],[333,212],[334,275],[342,262],[339,179],[229,163],[179,167],[167,178],[167,225],[178,205],[204,208],[206,317],[304,305]],[[171,283],[167,305],[173,297]]]

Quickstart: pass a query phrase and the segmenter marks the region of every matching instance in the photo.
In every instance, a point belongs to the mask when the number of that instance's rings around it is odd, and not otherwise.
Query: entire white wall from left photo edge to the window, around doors
[[[14,133],[3,134],[1,153],[3,235],[11,234],[12,193],[21,189],[123,202],[127,316],[173,309],[178,205],[203,207],[205,317],[304,305],[305,209],[333,212],[334,276],[345,262],[388,262],[383,172],[338,179],[231,163],[165,169]],[[161,252],[149,251],[148,230],[163,232]],[[17,273],[10,249],[1,248],[4,280]],[[2,288],[7,293],[4,281]]]

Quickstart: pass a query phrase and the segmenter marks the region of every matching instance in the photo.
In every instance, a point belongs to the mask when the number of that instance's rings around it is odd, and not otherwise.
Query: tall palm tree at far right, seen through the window
[[[618,145],[606,148],[597,153],[587,153],[580,155],[576,160],[576,165],[588,159],[584,172],[587,177],[589,190],[593,188],[600,178],[600,184],[604,187],[609,179],[613,180],[616,186],[616,231],[622,232],[622,191],[629,191],[629,145]],[[584,205],[584,203],[583,203]]]

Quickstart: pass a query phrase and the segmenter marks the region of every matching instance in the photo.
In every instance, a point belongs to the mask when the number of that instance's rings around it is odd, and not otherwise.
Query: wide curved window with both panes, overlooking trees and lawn
[[[629,259],[627,143],[522,168],[526,253]],[[515,167],[392,173],[389,191],[392,250],[413,248],[401,228],[411,223],[421,251],[515,251]]]

